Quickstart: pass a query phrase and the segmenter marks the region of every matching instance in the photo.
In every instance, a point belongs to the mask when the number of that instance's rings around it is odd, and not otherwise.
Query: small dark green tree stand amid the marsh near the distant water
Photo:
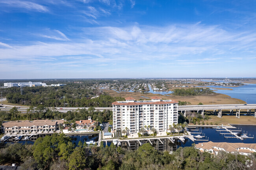
[[[176,96],[196,96],[196,95],[212,95],[215,92],[209,88],[188,88],[188,89],[174,89],[173,95]]]

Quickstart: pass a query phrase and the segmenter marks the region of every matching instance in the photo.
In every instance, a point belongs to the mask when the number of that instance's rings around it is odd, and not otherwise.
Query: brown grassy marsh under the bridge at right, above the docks
[[[254,115],[254,114],[253,114]],[[240,118],[236,118],[236,115],[234,116],[222,116],[222,118],[219,118],[217,116],[210,116],[211,119],[208,121],[204,121],[204,123],[213,122],[213,124],[217,123],[219,125],[227,125],[227,124],[255,124],[256,125],[256,118],[254,116],[241,116]]]

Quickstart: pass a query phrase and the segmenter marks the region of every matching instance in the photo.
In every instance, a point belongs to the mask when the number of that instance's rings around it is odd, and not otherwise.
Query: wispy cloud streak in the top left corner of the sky
[[[35,10],[35,11],[39,11],[39,12],[48,12],[49,11],[47,7],[33,3],[33,2],[29,2],[29,1],[1,0],[0,4],[6,4],[10,7],[24,8],[24,9]]]

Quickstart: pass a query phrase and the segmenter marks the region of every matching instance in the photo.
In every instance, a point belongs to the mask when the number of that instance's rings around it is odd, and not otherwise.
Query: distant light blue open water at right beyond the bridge
[[[232,98],[247,101],[248,104],[256,104],[256,84],[246,84],[240,87],[226,87],[226,86],[206,86],[213,88],[230,88],[232,90],[216,90],[216,93],[229,95]]]

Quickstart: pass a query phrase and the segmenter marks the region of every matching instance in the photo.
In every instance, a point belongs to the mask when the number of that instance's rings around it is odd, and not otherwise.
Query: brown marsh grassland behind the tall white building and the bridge
[[[231,98],[228,95],[216,93],[213,95],[200,95],[200,96],[193,96],[193,97],[182,97],[182,96],[171,96],[171,94],[168,95],[159,95],[159,94],[153,94],[153,93],[139,93],[139,92],[119,92],[113,90],[104,90],[109,93],[109,95],[113,97],[133,97],[136,100],[143,99],[146,100],[153,96],[159,96],[162,99],[172,99],[175,101],[187,101],[190,102],[192,105],[196,105],[198,103],[203,104],[245,104],[245,101],[242,101],[240,99],[234,99]]]

